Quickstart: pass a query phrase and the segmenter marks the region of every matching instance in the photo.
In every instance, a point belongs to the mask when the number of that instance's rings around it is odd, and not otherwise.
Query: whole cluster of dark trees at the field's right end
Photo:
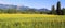
[[[56,4],[56,10],[55,6],[52,5],[52,10],[50,12],[50,14],[55,14],[55,15],[64,15],[65,14],[65,9],[61,9],[61,2],[58,1]]]

